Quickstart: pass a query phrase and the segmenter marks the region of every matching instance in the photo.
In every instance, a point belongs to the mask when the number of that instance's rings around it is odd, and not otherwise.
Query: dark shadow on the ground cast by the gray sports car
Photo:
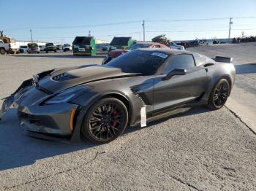
[[[162,120],[150,122],[147,127],[165,122],[173,117],[182,117],[210,111],[210,109],[204,107],[197,107],[195,109],[190,109],[187,113],[176,114],[172,117],[166,117]],[[140,128],[140,126],[129,127],[125,131],[124,136],[141,129],[143,128]],[[118,141],[118,139],[116,141]],[[4,116],[4,119],[0,122],[0,171],[31,165],[34,164],[36,160],[63,155],[82,149],[89,149],[97,147],[98,145],[99,144],[93,144],[86,140],[83,140],[78,144],[67,144],[26,136],[20,128],[17,110],[10,109]]]

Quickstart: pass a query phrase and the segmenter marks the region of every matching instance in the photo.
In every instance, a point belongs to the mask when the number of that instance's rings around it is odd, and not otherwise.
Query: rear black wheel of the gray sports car
[[[214,88],[211,90],[211,95],[208,100],[208,106],[211,109],[220,109],[225,105],[230,93],[230,85],[227,79],[219,79]]]

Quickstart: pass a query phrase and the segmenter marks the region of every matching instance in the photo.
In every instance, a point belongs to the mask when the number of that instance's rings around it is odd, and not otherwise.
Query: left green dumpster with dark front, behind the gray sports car
[[[73,55],[96,55],[96,44],[93,36],[76,36],[72,44]]]

